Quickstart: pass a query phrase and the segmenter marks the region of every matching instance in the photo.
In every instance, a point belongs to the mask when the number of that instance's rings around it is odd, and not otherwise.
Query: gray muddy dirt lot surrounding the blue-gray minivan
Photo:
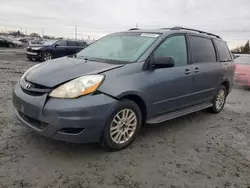
[[[0,187],[250,187],[250,91],[234,89],[225,109],[145,125],[134,144],[50,140],[13,115],[11,91],[34,62],[0,50]]]

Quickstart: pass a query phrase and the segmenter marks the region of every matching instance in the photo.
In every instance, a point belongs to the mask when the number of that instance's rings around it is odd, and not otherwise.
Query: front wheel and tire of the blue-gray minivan
[[[127,114],[127,116],[125,116],[127,118],[123,119],[122,117],[124,117],[123,115],[125,114]],[[118,120],[118,116],[120,117],[120,121]],[[132,118],[134,116],[136,118],[135,120]],[[125,121],[128,119],[131,120],[130,124],[128,121]],[[108,151],[119,151],[128,147],[140,131],[141,124],[142,115],[138,105],[131,100],[120,101],[104,127],[101,145]],[[111,130],[111,128],[113,130]],[[116,137],[118,138],[116,139]]]

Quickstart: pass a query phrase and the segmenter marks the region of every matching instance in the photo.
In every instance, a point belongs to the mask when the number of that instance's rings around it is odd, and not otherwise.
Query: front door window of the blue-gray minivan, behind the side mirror
[[[157,57],[172,57],[175,66],[187,65],[187,44],[185,36],[172,36],[164,41],[155,51]]]

